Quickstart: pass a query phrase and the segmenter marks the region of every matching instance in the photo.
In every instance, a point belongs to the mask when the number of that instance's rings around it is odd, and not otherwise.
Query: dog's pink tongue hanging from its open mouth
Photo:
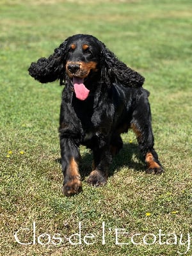
[[[85,100],[88,97],[90,90],[84,86],[83,78],[73,77],[73,84],[77,99]]]

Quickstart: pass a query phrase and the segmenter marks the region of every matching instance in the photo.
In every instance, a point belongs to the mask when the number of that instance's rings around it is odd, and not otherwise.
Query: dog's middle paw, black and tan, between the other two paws
[[[95,187],[104,186],[107,184],[107,177],[99,170],[94,170],[90,173],[87,182]]]

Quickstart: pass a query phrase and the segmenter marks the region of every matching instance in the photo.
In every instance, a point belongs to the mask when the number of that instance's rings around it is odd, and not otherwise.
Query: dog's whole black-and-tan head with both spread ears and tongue
[[[89,94],[84,84],[96,76],[107,88],[113,83],[139,87],[144,82],[138,72],[119,61],[97,38],[81,34],[68,37],[49,58],[31,63],[29,74],[41,83],[60,79],[60,84],[63,84],[63,81],[70,80],[76,97],[81,100]]]

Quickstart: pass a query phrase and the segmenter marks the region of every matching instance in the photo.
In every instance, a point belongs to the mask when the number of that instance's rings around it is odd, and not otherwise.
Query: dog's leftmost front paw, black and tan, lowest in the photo
[[[65,196],[72,196],[82,191],[82,182],[79,179],[71,179],[64,182],[62,193]]]

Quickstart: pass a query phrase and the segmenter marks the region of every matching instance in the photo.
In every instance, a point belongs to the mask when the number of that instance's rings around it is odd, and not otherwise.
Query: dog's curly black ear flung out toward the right
[[[111,83],[122,84],[125,87],[141,87],[145,78],[118,60],[115,54],[109,51],[102,42],[100,44],[102,45],[102,79],[106,81],[106,84],[109,87]]]

